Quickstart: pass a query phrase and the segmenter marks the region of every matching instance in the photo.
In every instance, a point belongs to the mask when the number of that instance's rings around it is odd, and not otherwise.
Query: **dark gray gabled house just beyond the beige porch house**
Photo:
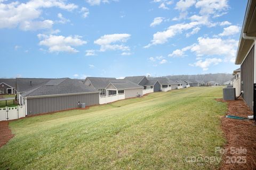
[[[125,77],[124,80],[129,80],[139,86],[142,86],[144,90],[154,89],[152,92],[160,91],[161,84],[155,79],[147,79],[145,75]]]

